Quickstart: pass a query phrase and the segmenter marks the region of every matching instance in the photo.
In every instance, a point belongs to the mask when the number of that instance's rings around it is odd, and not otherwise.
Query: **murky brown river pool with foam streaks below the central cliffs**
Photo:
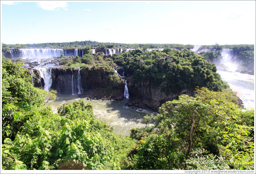
[[[121,101],[102,101],[86,100],[86,97],[79,98],[78,96],[72,95],[57,95],[56,101],[51,103],[51,107],[53,112],[56,113],[57,108],[62,104],[69,104],[79,99],[82,99],[85,103],[91,103],[96,117],[101,121],[105,121],[108,125],[113,126],[114,133],[124,136],[130,135],[132,128],[145,126],[143,124],[143,117],[146,114],[154,113],[151,110],[126,106],[125,103],[128,101],[126,98]]]

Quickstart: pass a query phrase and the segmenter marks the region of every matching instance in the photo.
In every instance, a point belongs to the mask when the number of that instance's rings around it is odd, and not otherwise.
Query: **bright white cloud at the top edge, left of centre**
[[[37,2],[37,5],[44,10],[55,10],[56,8],[63,8],[64,10],[68,10],[68,5],[65,1],[39,1]]]

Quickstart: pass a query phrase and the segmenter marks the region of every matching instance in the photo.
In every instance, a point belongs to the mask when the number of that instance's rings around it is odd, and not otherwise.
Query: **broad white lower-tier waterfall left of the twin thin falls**
[[[52,85],[52,68],[51,67],[38,67],[40,77],[44,79],[44,90],[50,91]]]

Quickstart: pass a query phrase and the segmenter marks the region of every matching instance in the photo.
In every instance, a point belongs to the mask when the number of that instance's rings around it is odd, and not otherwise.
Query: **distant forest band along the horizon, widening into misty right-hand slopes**
[[[147,49],[193,49],[194,45],[183,45],[183,44],[120,44],[120,43],[101,43],[96,41],[75,41],[75,42],[64,42],[64,43],[41,43],[41,44],[3,44],[2,43],[2,55],[9,53],[11,49],[20,48],[61,48],[61,49],[141,49],[143,51]],[[243,44],[243,45],[200,45],[196,50],[201,56],[215,63],[219,70],[226,71],[226,67],[221,64],[221,51],[223,49],[232,49],[233,58],[232,62],[238,65],[237,71],[241,73],[254,74],[254,45]],[[206,52],[207,50],[207,52]]]

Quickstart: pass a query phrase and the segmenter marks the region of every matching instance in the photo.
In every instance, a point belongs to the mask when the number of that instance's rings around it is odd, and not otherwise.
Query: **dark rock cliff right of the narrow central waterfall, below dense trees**
[[[129,95],[135,100],[130,105],[137,107],[150,107],[157,109],[164,102],[178,99],[178,96],[186,94],[192,96],[192,93],[186,89],[178,93],[166,93],[161,90],[161,87],[153,88],[148,82],[142,82],[140,84],[127,83],[129,89]]]

